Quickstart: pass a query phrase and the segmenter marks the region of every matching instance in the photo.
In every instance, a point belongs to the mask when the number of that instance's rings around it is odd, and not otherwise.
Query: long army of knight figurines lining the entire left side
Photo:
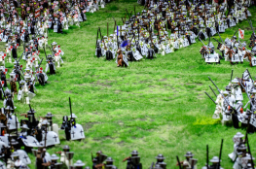
[[[61,51],[56,42],[48,43],[48,29],[62,33],[62,29],[68,29],[69,26],[80,26],[80,22],[87,19],[86,12],[96,12],[98,6],[104,8],[106,2],[108,1],[0,2],[0,41],[6,44],[5,51],[0,51],[0,99],[4,105],[0,111],[1,168],[28,168],[31,160],[27,152],[33,152],[36,156],[36,168],[52,165],[51,168],[54,169],[59,165],[56,162],[58,157],[50,156],[46,148],[60,144],[58,130],[64,131],[66,140],[85,138],[83,127],[76,123],[75,114],[63,117],[62,125],[58,128],[53,123],[54,115],[51,113],[43,118],[36,118],[36,111],[31,108],[30,100],[38,92],[35,85],[47,84],[48,76],[55,75],[56,67],[63,63],[61,56],[64,51]],[[51,54],[47,54],[47,51]],[[18,52],[22,52],[20,56]],[[46,67],[43,68],[44,57]],[[6,63],[14,64],[13,69],[8,70]],[[18,101],[29,106],[27,114],[20,115],[27,119],[18,120],[14,102],[16,96]],[[71,101],[69,103],[71,111]],[[60,160],[66,160],[65,155],[62,158]]]

